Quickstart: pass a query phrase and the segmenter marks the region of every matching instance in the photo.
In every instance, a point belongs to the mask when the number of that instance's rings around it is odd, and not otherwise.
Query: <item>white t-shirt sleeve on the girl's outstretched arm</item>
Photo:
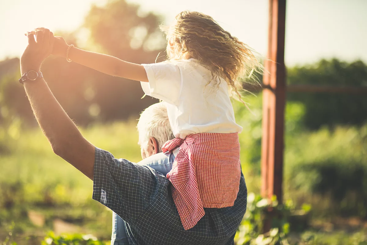
[[[177,105],[181,92],[181,70],[177,64],[160,62],[142,64],[149,82],[140,82],[146,95]]]

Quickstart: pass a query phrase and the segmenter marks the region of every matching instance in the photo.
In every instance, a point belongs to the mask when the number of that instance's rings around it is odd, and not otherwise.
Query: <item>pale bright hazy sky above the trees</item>
[[[43,26],[53,32],[81,26],[91,4],[107,0],[1,0],[0,60],[20,57],[24,33]],[[265,57],[268,0],[128,0],[170,23],[182,10],[211,15],[233,36]],[[321,58],[367,62],[367,0],[287,0],[285,62],[304,65]]]

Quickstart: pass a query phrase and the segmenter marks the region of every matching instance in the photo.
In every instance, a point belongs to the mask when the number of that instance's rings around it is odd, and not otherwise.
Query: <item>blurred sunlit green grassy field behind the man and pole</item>
[[[291,110],[297,111],[297,108],[288,108],[288,115],[292,115]],[[236,113],[239,121],[244,120],[239,111]],[[249,192],[255,193],[259,193],[260,186],[259,154],[256,153],[261,137],[261,132],[257,132],[258,122],[257,119],[248,122],[251,130],[245,129],[240,139],[243,172]],[[81,131],[91,143],[115,157],[138,162],[141,156],[135,125],[136,120],[130,120],[93,125]],[[297,135],[292,133],[294,127],[289,123],[287,127],[285,198],[294,201],[287,201],[292,209],[305,203],[312,206],[309,226],[306,230],[291,232],[288,240],[302,241],[300,244],[366,244],[363,243],[367,241],[365,209],[361,206],[358,210],[360,199],[353,196],[358,192],[348,191],[350,200],[343,199],[341,208],[331,197],[332,189],[321,195],[313,184],[318,183],[317,178],[322,173],[317,172],[319,165],[338,166],[337,169],[348,176],[348,169],[358,169],[359,163],[366,161],[363,152],[367,127],[320,129]],[[55,155],[39,128],[12,135],[14,139],[8,141],[0,155],[0,242],[9,237],[18,244],[40,244],[48,231],[53,231],[55,235],[92,234],[108,243],[112,212],[91,199],[92,181]],[[341,151],[344,154],[338,156]],[[348,171],[343,170],[343,161],[348,162]],[[353,173],[350,172],[350,177],[356,179]],[[353,206],[353,202],[357,203]],[[343,216],[343,212],[347,215]],[[241,240],[237,239],[237,244],[241,244]]]

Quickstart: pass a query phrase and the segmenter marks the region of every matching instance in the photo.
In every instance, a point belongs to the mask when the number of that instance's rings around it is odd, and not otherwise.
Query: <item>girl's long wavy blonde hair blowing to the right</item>
[[[213,80],[218,76],[225,79],[231,94],[237,94],[244,103],[238,79],[262,70],[250,47],[230,35],[212,17],[200,12],[183,11],[176,16],[174,24],[162,29],[166,31],[168,45],[172,45],[174,59],[199,60],[211,70]]]

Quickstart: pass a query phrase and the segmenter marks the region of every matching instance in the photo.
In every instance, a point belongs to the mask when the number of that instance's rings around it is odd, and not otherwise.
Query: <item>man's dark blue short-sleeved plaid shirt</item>
[[[185,230],[166,176],[95,149],[93,199],[127,222],[130,245],[231,245],[246,212],[246,198],[241,174],[234,205],[204,208],[205,215],[196,226]]]

